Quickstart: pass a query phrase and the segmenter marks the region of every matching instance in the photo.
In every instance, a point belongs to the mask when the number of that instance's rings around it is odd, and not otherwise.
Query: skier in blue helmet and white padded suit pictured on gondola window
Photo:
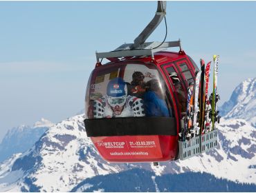
[[[122,78],[111,79],[106,94],[95,101],[94,117],[145,116],[143,100],[127,94],[127,84]]]

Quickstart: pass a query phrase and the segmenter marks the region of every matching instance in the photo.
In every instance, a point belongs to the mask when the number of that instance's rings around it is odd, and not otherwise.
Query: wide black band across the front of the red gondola
[[[84,119],[87,136],[177,135],[173,117]]]

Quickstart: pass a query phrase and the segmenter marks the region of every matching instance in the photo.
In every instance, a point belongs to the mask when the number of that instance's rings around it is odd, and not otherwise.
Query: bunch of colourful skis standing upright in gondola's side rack
[[[201,59],[201,71],[196,74],[195,83],[191,83],[188,87],[187,110],[186,115],[183,117],[185,124],[180,134],[182,141],[185,141],[185,139],[189,140],[191,137],[204,134],[205,132],[210,132],[214,129],[214,123],[216,121],[219,123],[220,116],[216,106],[219,100],[219,94],[217,94],[219,56],[214,55],[213,61],[213,91],[210,98],[208,97],[208,89],[211,62],[208,62],[205,67],[205,62]]]

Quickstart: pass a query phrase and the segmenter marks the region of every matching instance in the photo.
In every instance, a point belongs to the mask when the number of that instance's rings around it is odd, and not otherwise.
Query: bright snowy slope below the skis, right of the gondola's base
[[[231,181],[256,183],[255,128],[243,119],[221,121],[217,126],[218,148],[177,165],[183,170],[207,172]]]

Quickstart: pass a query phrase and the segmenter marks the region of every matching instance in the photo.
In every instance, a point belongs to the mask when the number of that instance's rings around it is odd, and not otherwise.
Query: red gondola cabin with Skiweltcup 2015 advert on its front
[[[95,148],[110,162],[177,159],[194,61],[183,50],[109,60],[96,64],[86,90],[84,123]]]

